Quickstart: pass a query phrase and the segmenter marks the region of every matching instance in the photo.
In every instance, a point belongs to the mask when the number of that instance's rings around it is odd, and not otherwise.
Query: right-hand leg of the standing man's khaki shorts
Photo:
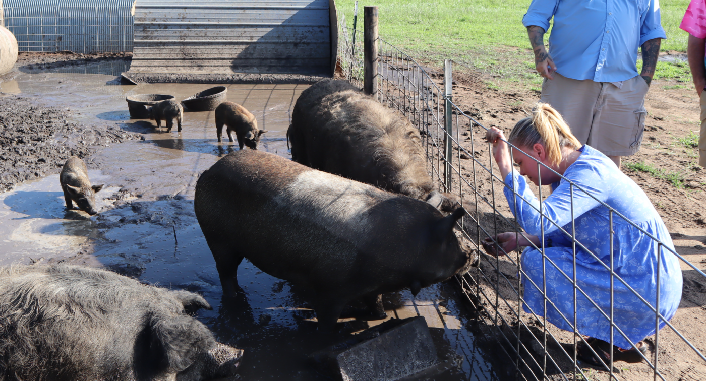
[[[640,75],[623,81],[622,87],[613,83],[602,83],[602,87],[587,144],[610,157],[619,168],[621,157],[640,149],[649,87]]]

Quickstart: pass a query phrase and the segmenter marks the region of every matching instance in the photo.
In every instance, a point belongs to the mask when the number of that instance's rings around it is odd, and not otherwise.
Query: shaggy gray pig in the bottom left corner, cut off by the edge
[[[242,351],[189,313],[198,294],[90,267],[0,267],[0,380],[197,381],[234,375]]]

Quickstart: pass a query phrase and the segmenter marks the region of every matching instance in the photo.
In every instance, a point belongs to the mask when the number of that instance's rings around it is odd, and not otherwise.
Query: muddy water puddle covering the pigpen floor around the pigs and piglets
[[[98,65],[98,64],[92,64]],[[87,65],[90,66],[90,65]],[[217,143],[213,111],[185,112],[183,131],[159,130],[148,120],[131,120],[125,97],[159,93],[177,101],[213,85],[119,85],[124,68],[85,67],[19,72],[0,83],[0,92],[35,95],[44,104],[76,111],[76,122],[116,124],[143,140],[105,147],[87,159],[100,214],[64,210],[58,175],[24,183],[0,194],[1,265],[58,262],[104,265],[143,282],[195,291],[212,311],[199,319],[217,339],[246,351],[242,380],[328,380],[309,364],[309,353],[378,321],[341,319],[337,337],[315,334],[315,314],[297,290],[244,260],[238,279],[243,289],[223,300],[213,256],[193,213],[193,190],[202,171],[238,150],[237,142]],[[290,157],[285,132],[294,102],[306,85],[227,85],[228,100],[258,119],[261,150]],[[416,298],[409,291],[385,295],[385,309],[396,318],[422,315],[440,358],[453,364],[436,380],[495,380],[475,346],[469,315],[452,284],[436,284]]]

